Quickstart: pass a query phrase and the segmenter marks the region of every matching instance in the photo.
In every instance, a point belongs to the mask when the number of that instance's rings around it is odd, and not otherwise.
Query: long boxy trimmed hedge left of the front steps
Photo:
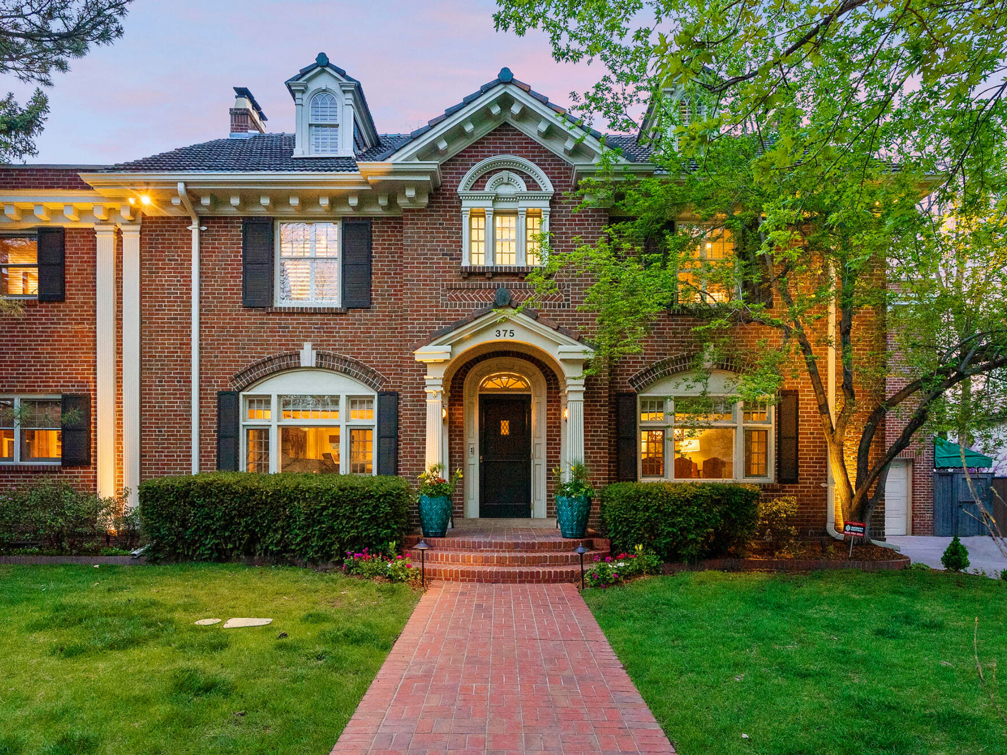
[[[140,484],[155,560],[341,561],[402,542],[412,490],[402,477],[208,472]]]

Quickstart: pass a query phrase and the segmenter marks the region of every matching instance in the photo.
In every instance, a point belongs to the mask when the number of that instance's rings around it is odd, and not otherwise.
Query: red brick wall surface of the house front
[[[310,341],[318,352],[359,362],[382,381],[381,390],[400,394],[399,471],[415,479],[424,466],[426,438],[426,367],[413,354],[417,344],[469,312],[492,302],[494,291],[509,289],[517,300],[527,296],[523,276],[494,273],[466,277],[461,269],[461,202],[457,194],[463,175],[480,160],[501,154],[524,157],[552,181],[550,231],[553,245],[573,249],[577,240],[597,239],[607,215],[599,209],[574,211],[574,170],[564,158],[517,128],[503,123],[487,136],[443,162],[441,184],[428,204],[403,209],[400,216],[373,217],[373,302],[370,309],[304,310],[246,308],[242,305],[242,219],[206,215],[200,222],[200,433],[199,467],[217,466],[217,395],[233,390],[257,362],[297,352]],[[4,188],[87,188],[73,169],[0,169]],[[141,479],[187,474],[189,445],[189,267],[191,235],[188,217],[149,215],[141,224]],[[120,242],[121,254],[121,242]],[[0,356],[0,393],[91,393],[95,399],[96,242],[90,229],[66,234],[66,300],[31,303],[20,320],[5,322]],[[120,260],[121,270],[121,260]],[[573,331],[590,334],[591,316],[578,310],[589,281],[564,279],[560,295],[546,302],[543,314]],[[117,292],[120,306],[121,291]],[[594,481],[615,478],[615,393],[632,390],[630,379],[656,362],[695,350],[688,317],[669,314],[655,329],[643,353],[624,359],[610,375],[592,376],[584,400],[585,461]],[[771,333],[739,326],[739,342],[754,346]],[[121,336],[119,338],[121,348]],[[506,349],[500,352],[506,353]],[[494,352],[496,353],[496,352]],[[448,465],[461,466],[463,454],[461,382],[476,357],[453,373],[449,393]],[[560,461],[561,375],[549,363],[527,354],[547,382],[546,463]],[[825,356],[823,352],[823,357]],[[279,362],[278,362],[279,363]],[[823,359],[824,363],[824,359]],[[379,380],[375,378],[375,380]],[[800,482],[765,485],[767,493],[794,494],[801,502],[804,534],[824,533],[826,523],[826,454],[811,387],[803,381],[789,386],[800,392]],[[120,384],[121,391],[121,384]],[[120,434],[121,438],[121,434]],[[121,448],[119,458],[122,458]],[[46,469],[0,468],[0,484],[21,483]],[[62,472],[93,488],[90,468]],[[120,476],[121,479],[121,476]],[[548,490],[551,498],[552,482]],[[462,504],[455,510],[461,515]],[[552,504],[548,514],[554,513]],[[921,524],[922,526],[922,524]]]

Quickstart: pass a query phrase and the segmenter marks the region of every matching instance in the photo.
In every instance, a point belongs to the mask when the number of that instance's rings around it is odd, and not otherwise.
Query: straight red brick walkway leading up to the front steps
[[[435,583],[333,755],[674,753],[573,585]]]

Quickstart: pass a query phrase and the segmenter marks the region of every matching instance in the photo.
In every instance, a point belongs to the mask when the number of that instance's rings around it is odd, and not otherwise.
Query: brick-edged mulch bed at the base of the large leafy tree
[[[832,545],[829,549],[828,546]],[[802,543],[790,554],[772,556],[761,544],[744,556],[724,559],[707,559],[696,564],[665,564],[664,573],[702,572],[812,572],[815,570],[856,569],[862,572],[884,572],[905,569],[911,563],[904,556],[889,548],[874,545],[850,547],[835,541],[827,543]]]

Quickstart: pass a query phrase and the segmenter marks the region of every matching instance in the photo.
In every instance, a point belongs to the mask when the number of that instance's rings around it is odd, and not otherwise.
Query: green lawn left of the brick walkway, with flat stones
[[[0,755],[326,755],[418,598],[293,568],[0,566]],[[192,624],[234,616],[273,623]]]

